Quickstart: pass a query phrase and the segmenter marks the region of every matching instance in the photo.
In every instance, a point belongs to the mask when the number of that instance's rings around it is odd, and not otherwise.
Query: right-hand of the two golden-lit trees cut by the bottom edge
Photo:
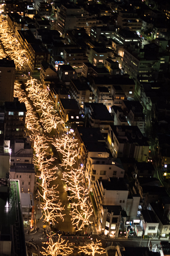
[[[105,250],[102,248],[101,240],[97,240],[96,242],[91,242],[91,244],[84,245],[83,247],[79,246],[79,253],[84,252],[87,255],[94,256],[95,254],[103,254]]]

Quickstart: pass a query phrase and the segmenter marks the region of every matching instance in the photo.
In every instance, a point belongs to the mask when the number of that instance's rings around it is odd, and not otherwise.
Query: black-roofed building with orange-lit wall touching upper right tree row
[[[67,114],[80,114],[80,108],[75,99],[59,99],[59,112],[63,121],[66,121]]]

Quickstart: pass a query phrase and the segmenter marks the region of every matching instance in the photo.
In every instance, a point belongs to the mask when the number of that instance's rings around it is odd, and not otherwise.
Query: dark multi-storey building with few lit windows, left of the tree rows
[[[25,103],[19,102],[18,98],[5,102],[5,139],[26,137],[26,111]]]

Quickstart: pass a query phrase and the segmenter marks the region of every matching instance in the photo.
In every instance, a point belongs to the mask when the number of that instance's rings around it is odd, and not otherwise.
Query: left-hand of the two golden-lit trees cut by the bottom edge
[[[70,255],[73,252],[72,243],[68,243],[68,241],[65,241],[62,239],[61,234],[58,235],[58,241],[54,242],[53,237],[49,237],[49,242],[43,242],[43,244],[47,245],[47,248],[42,247],[45,251],[41,251],[42,255],[45,256],[67,256]]]

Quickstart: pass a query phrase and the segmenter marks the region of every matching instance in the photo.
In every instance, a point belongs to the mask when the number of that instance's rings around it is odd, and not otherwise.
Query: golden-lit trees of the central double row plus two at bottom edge
[[[30,90],[32,86],[35,90]],[[37,90],[37,88],[40,89],[41,87],[38,86],[38,83],[35,79],[27,81],[27,91],[29,92],[28,95],[30,99],[32,100],[34,106],[38,108],[38,110],[41,109],[42,113],[45,112],[45,110],[48,111],[50,118],[48,119],[48,115],[46,115],[45,118],[47,123],[51,123],[51,115],[53,115],[53,113],[48,108],[48,106],[51,105],[51,101],[48,99],[43,90]],[[33,91],[36,93],[34,94]],[[39,186],[41,187],[39,190],[39,195],[43,199],[41,203],[43,221],[48,223],[53,222],[55,224],[57,217],[60,217],[61,220],[64,220],[64,214],[62,213],[64,207],[59,200],[57,186],[50,185],[50,183],[54,182],[57,178],[55,177],[57,168],[52,166],[55,159],[49,157],[47,154],[49,143],[53,143],[56,149],[63,155],[62,165],[65,167],[65,172],[63,173],[63,180],[66,183],[65,190],[70,191],[70,199],[74,200],[74,202],[71,203],[72,209],[70,212],[72,224],[76,225],[77,230],[82,230],[85,225],[91,223],[89,218],[92,215],[92,207],[88,200],[88,190],[85,189],[83,185],[83,169],[73,168],[74,164],[76,163],[76,158],[79,155],[78,142],[68,135],[64,135],[61,138],[56,139],[54,142],[52,142],[52,139],[48,137],[41,136],[39,134],[39,130],[40,123],[42,122],[44,115],[41,115],[39,122],[39,119],[36,117],[32,106],[27,100],[26,94],[19,88],[18,84],[15,84],[14,92],[14,96],[18,97],[19,101],[24,101],[26,103],[27,129],[29,130],[30,137],[34,143],[34,161],[40,172],[40,175],[38,176],[40,178]],[[59,120],[60,119],[57,117],[58,123],[60,122]],[[54,241],[53,237],[50,237],[49,241],[45,244],[48,246],[47,248],[43,247],[45,250],[41,252],[43,255],[69,255],[73,250],[72,244],[68,244],[68,242],[65,242],[65,240],[60,238],[60,236],[57,242]],[[81,251],[88,255],[94,255],[96,252],[100,254],[103,253],[101,243],[98,241],[96,243],[92,242],[91,244],[80,247],[80,252]]]

